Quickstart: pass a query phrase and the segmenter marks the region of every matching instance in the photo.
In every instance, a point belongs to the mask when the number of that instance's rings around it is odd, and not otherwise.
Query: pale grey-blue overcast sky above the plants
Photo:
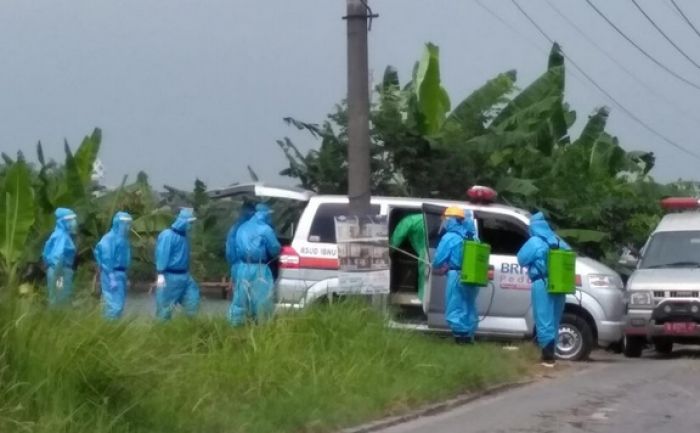
[[[380,18],[369,36],[370,68],[387,65],[402,82],[423,44],[440,47],[453,104],[495,74],[517,69],[524,87],[546,68],[549,43],[511,0],[370,0]],[[549,0],[631,77],[562,20],[547,0],[518,0],[598,84],[633,115],[700,155],[700,90],[674,78],[617,34],[585,0]],[[623,32],[673,72],[697,83],[700,68],[676,51],[631,0],[592,0]],[[700,63],[700,36],[670,0],[637,0]],[[696,26],[700,2],[676,0]],[[345,95],[343,0],[0,0],[0,150],[32,159],[41,140],[61,158],[103,130],[106,183],[145,170],[153,183],[211,187],[283,181],[275,140],[316,146],[282,118],[320,122]],[[662,181],[700,179],[700,160],[644,129],[569,64],[567,101],[579,124],[597,106],[612,109],[608,130],[628,149],[657,155]],[[640,80],[643,84],[640,84]],[[289,181],[284,181],[289,182]]]

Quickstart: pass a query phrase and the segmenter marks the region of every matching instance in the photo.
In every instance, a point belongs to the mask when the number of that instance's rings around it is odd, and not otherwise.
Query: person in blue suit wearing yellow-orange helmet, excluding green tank
[[[472,344],[479,324],[476,298],[479,287],[461,279],[464,241],[477,240],[474,219],[462,208],[449,207],[444,213],[443,235],[433,259],[433,269],[446,272],[445,320],[458,344]]]

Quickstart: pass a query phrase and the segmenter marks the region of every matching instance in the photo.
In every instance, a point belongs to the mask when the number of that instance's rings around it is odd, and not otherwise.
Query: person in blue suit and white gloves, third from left
[[[158,235],[156,241],[156,316],[172,317],[176,304],[193,316],[199,309],[199,287],[190,275],[188,232],[196,218],[192,209],[182,209],[175,222]]]

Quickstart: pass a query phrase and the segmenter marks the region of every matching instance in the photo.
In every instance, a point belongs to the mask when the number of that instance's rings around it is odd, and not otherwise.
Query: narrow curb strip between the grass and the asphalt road
[[[376,421],[370,421],[368,423],[361,424],[355,427],[348,427],[345,429],[338,430],[338,433],[371,433],[377,430],[386,429],[393,427],[398,424],[403,424],[408,421],[413,421],[418,418],[437,415],[439,413],[447,412],[452,409],[456,409],[460,406],[464,406],[467,403],[471,403],[474,400],[478,400],[484,397],[490,397],[493,395],[501,394],[506,391],[510,391],[516,388],[522,388],[526,385],[530,385],[537,382],[536,377],[530,377],[517,382],[507,382],[500,385],[495,385],[492,387],[485,388],[481,391],[468,392],[460,394],[457,397],[444,400],[439,403],[431,403],[422,406],[418,409],[414,409],[408,413],[396,416],[390,416],[387,418],[382,418]]]

